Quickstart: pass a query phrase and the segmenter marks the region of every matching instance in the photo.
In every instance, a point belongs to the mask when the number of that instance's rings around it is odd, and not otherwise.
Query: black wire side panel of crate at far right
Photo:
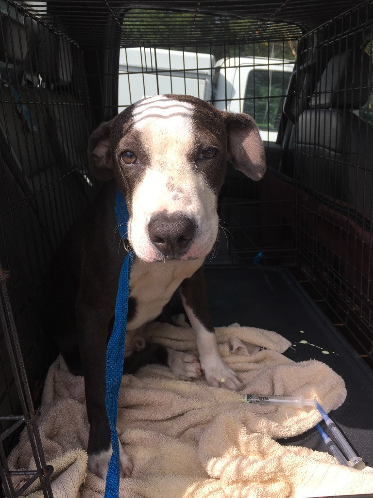
[[[341,16],[338,35],[335,25],[327,23],[300,38],[295,138],[295,233],[300,264],[319,296],[349,329],[354,347],[370,359],[373,354],[371,9],[372,3],[367,2]],[[333,81],[333,87],[326,81]]]

